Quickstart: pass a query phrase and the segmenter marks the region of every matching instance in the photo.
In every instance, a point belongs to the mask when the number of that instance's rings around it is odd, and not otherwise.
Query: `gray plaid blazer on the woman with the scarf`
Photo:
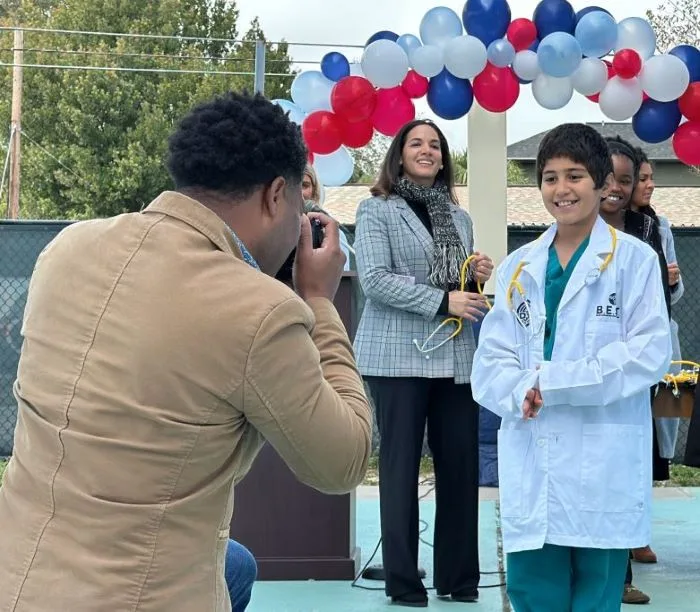
[[[474,248],[472,221],[451,206],[455,226],[468,253]],[[364,376],[452,378],[468,383],[475,351],[471,323],[437,350],[421,353],[423,344],[445,319],[437,316],[444,291],[430,284],[433,239],[403,198],[373,197],[360,203],[355,253],[365,306],[355,335],[355,356]],[[445,325],[435,346],[454,331]]]

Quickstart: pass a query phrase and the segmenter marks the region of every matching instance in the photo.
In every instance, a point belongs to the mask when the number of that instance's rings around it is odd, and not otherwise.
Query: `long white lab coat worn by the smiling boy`
[[[481,326],[474,399],[503,418],[498,437],[503,547],[545,543],[634,548],[651,541],[652,417],[649,388],[671,358],[659,260],[640,240],[598,219],[557,315],[552,361],[543,360],[544,283],[556,225],[499,266],[493,309]],[[519,262],[530,300],[530,342],[506,304]],[[514,292],[513,308],[526,317]],[[520,307],[520,308],[519,308]],[[544,406],[522,418],[525,393]]]

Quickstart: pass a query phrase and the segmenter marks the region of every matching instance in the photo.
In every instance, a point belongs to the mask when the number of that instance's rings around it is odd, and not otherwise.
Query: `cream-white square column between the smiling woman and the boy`
[[[508,253],[506,115],[490,113],[475,100],[467,117],[469,214],[475,248],[497,266]],[[487,283],[485,293],[495,292],[495,277]]]

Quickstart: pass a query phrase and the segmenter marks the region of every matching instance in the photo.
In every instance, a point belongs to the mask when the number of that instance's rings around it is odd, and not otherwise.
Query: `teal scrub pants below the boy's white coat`
[[[619,612],[629,551],[545,544],[507,555],[514,612]]]

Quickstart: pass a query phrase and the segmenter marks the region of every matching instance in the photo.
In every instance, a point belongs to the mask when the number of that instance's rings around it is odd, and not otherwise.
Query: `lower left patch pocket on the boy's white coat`
[[[525,469],[532,434],[523,429],[498,430],[498,490],[503,518],[527,516],[531,474]]]

